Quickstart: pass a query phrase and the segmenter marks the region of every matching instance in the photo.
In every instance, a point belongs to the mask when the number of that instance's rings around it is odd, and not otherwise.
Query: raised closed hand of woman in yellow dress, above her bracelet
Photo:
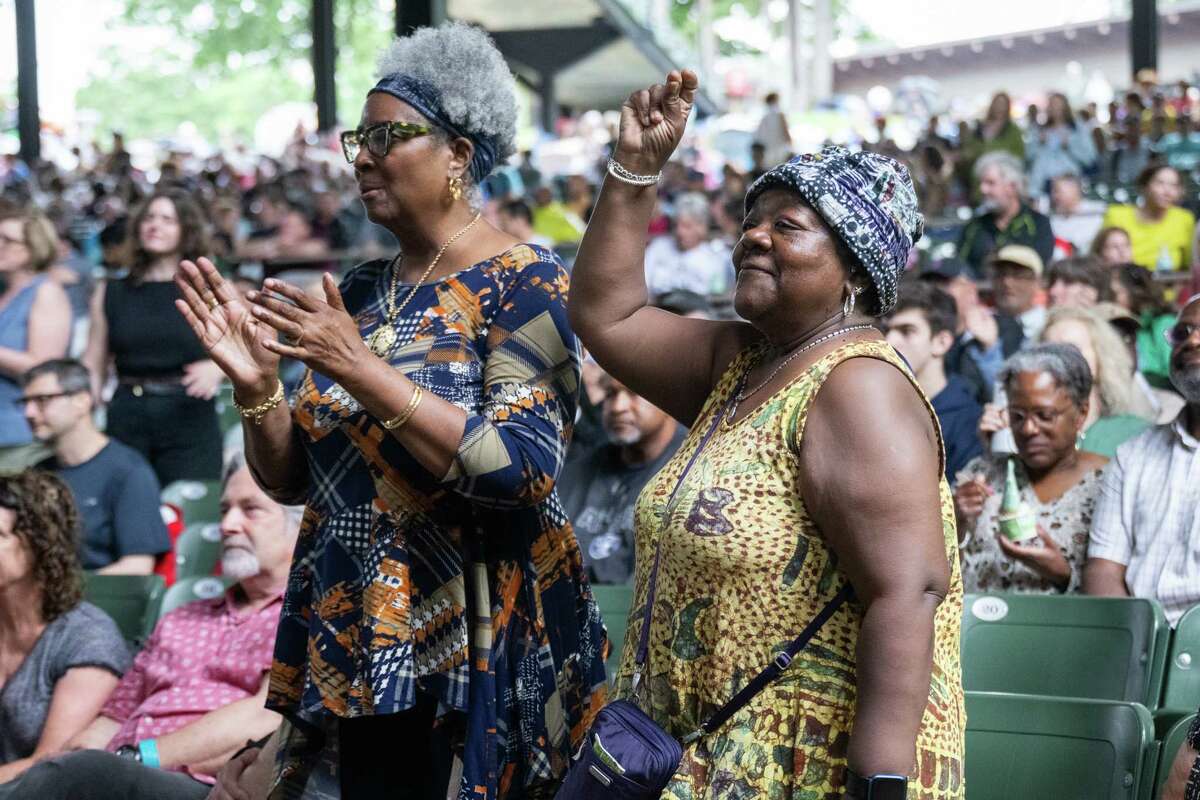
[[[635,91],[620,107],[620,133],[613,157],[638,175],[662,169],[679,146],[700,78],[691,70],[672,70],[665,84]]]

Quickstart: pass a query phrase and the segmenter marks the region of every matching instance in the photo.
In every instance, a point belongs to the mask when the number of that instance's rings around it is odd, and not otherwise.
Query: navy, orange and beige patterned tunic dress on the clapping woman
[[[390,277],[377,260],[342,283],[364,336]],[[520,245],[424,284],[396,320],[392,367],[467,413],[446,475],[325,375],[293,398],[311,483],[268,705],[328,733],[432,696],[464,734],[462,800],[552,790],[606,699],[607,639],[554,493],[580,379],[566,290],[557,257]],[[281,777],[302,786],[287,747]]]

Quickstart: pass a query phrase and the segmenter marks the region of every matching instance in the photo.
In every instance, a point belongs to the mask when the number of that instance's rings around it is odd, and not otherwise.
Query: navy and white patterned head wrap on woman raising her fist
[[[908,251],[924,218],[908,170],[875,152],[829,146],[775,167],[746,191],[746,212],[769,188],[799,194],[863,264],[880,296],[881,314],[896,303]]]

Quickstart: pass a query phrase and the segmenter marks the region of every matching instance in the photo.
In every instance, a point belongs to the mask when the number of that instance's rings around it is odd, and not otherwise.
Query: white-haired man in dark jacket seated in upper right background
[[[976,162],[974,173],[985,211],[962,229],[958,251],[959,258],[974,270],[973,277],[982,278],[988,257],[1006,245],[1032,247],[1048,264],[1054,255],[1054,230],[1049,217],[1021,200],[1021,162],[1007,152],[989,152]]]

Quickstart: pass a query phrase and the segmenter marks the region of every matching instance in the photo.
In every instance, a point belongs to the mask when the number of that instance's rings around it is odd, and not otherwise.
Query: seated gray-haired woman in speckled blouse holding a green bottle
[[[1087,558],[1100,471],[1108,458],[1080,450],[1092,371],[1070,344],[1039,344],[1001,371],[1016,455],[979,456],[959,473],[954,509],[966,591],[1075,591]],[[1037,539],[1001,533],[1009,459],[1021,501],[1037,516]]]

